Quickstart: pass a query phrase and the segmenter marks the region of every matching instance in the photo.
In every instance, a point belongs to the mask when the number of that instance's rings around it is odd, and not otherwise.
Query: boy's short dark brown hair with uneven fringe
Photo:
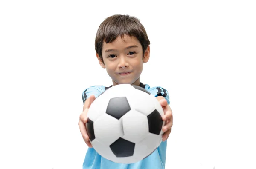
[[[111,43],[118,36],[121,36],[122,40],[124,40],[124,35],[136,37],[137,40],[140,41],[144,57],[145,50],[147,49],[148,45],[150,45],[150,41],[148,39],[148,35],[144,26],[140,23],[140,20],[137,17],[116,14],[107,17],[100,24],[99,29],[96,33],[95,50],[97,54],[99,54],[99,57],[102,60],[102,62],[103,43]]]

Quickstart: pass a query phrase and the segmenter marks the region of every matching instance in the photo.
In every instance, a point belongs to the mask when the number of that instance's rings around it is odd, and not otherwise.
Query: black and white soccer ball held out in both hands
[[[151,155],[162,142],[163,108],[140,86],[119,84],[91,104],[86,123],[90,143],[115,163],[135,163]]]

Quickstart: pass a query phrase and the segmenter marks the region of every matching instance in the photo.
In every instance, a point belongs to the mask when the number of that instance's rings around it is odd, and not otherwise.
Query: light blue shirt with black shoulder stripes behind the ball
[[[102,92],[110,87],[112,87],[112,85],[109,87],[90,86],[83,92],[83,103],[90,97],[90,95],[94,95],[97,98]],[[170,104],[169,93],[166,89],[160,86],[150,88],[148,84],[144,85],[143,83],[140,83],[140,87],[148,90],[148,92],[155,97],[163,96],[168,104]],[[160,146],[158,146],[158,148],[147,158],[131,164],[114,163],[99,155],[95,149],[89,147],[84,158],[83,169],[164,169],[166,162],[166,146],[167,140],[165,142],[162,141]]]

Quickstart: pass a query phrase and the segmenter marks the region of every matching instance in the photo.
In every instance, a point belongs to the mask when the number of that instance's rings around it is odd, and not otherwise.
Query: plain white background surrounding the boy
[[[166,169],[256,169],[255,9],[253,0],[1,1],[0,168],[82,168],[82,92],[112,84],[96,31],[129,14],[151,41],[141,82],[170,95]]]

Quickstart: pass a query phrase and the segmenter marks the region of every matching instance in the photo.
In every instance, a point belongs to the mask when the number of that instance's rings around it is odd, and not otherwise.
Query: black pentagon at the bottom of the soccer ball
[[[134,153],[135,143],[123,138],[117,139],[109,146],[116,157],[129,157]]]

